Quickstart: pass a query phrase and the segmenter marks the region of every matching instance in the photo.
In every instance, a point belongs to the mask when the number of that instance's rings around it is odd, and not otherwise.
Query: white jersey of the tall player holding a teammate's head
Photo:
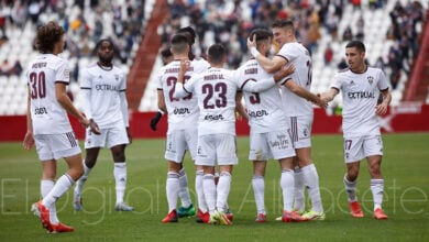
[[[287,43],[277,53],[295,66],[295,72],[287,77],[310,91],[311,57],[306,47],[298,42]],[[282,85],[283,105],[287,117],[312,116],[312,103]]]

